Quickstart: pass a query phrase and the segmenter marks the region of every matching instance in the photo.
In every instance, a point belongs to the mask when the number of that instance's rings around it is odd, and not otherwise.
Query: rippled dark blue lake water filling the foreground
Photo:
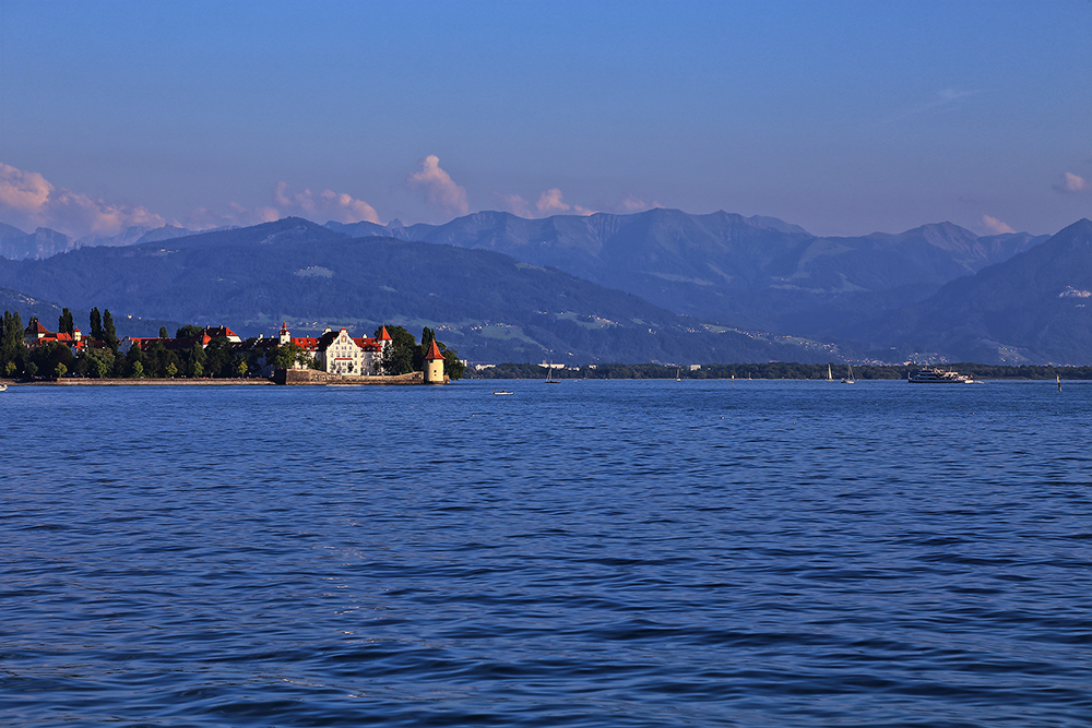
[[[0,394],[5,726],[1092,721],[1092,384]]]

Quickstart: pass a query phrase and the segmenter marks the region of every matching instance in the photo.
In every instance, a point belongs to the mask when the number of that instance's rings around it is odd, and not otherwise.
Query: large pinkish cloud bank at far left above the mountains
[[[38,172],[0,163],[0,219],[24,229],[48,227],[73,238],[112,236],[127,227],[162,227],[147,208],[114,204],[49,183]]]

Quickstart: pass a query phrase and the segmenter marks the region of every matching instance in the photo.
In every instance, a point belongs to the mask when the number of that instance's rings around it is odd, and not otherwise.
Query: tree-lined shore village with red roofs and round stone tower
[[[107,309],[91,311],[88,335],[63,309],[57,331],[37,318],[24,327],[4,311],[0,377],[23,382],[198,383],[213,380],[277,384],[443,384],[465,363],[425,327],[422,339],[402,326],[381,325],[372,336],[327,329],[294,336],[287,323],[272,336],[244,339],[227,326],[181,326],[170,336],[118,338]]]

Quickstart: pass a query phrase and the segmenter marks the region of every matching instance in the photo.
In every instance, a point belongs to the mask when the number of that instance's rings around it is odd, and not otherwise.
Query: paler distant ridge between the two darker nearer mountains
[[[328,227],[502,252],[637,294],[677,313],[828,336],[923,300],[946,283],[1046,239],[980,237],[951,223],[901,234],[823,238],[771,217],[656,208],[526,219],[482,212],[443,225]]]

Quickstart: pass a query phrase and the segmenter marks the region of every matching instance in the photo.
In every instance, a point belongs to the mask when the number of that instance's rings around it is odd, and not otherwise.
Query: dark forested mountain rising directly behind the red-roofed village
[[[380,323],[438,329],[477,360],[829,360],[818,346],[710,329],[636,296],[500,253],[351,239],[299,218],[126,248],[0,261],[0,285],[110,308],[272,334]],[[836,356],[835,356],[836,358]]]

